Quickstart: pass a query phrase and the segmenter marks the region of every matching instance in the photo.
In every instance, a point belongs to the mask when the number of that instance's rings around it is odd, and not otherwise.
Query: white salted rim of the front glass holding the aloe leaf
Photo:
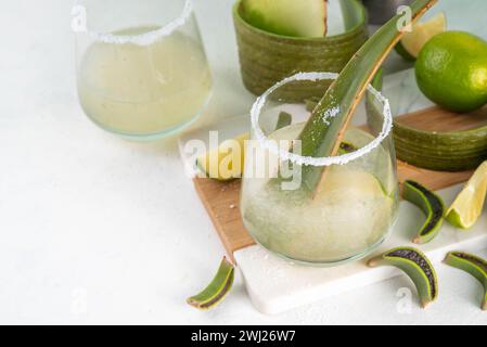
[[[334,73],[298,73],[291,77],[287,77],[280,82],[275,83],[271,88],[269,88],[261,97],[257,99],[257,101],[252,106],[251,111],[251,119],[252,127],[254,129],[255,137],[260,142],[260,144],[278,155],[282,160],[290,160],[296,165],[307,165],[307,166],[331,166],[331,165],[346,165],[353,160],[358,159],[359,157],[369,154],[373,150],[375,150],[390,133],[393,130],[393,114],[390,112],[389,101],[379,92],[372,85],[369,85],[367,89],[384,105],[383,114],[384,114],[384,123],[382,126],[382,131],[379,136],[372,140],[370,143],[357,150],[353,153],[347,153],[339,156],[326,156],[326,157],[311,157],[311,156],[302,156],[294,153],[290,153],[283,149],[280,149],[275,141],[267,138],[260,128],[259,117],[262,111],[262,107],[267,101],[267,98],[277,89],[282,86],[298,80],[322,80],[322,79],[337,79],[338,74]]]

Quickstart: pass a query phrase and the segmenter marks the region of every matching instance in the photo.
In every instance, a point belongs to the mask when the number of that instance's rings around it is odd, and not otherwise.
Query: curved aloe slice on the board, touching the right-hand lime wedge
[[[426,221],[412,241],[416,244],[431,242],[436,237],[443,224],[445,204],[438,195],[414,181],[406,181],[402,187],[402,197],[416,205],[426,216]]]

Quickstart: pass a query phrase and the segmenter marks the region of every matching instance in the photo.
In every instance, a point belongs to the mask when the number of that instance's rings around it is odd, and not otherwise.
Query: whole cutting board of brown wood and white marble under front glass
[[[397,80],[403,80],[403,78],[395,76],[392,79],[393,82]],[[393,88],[389,86],[389,89],[394,90],[394,86]],[[436,124],[436,128],[439,125],[443,131],[459,128],[469,129],[486,124],[487,114],[484,114],[484,117],[482,115],[459,116],[446,113],[438,107],[428,108],[431,104],[424,105],[421,102],[409,101],[409,99],[415,100],[416,98],[413,92],[403,93],[402,83],[398,85],[397,89],[399,89],[399,92],[395,94],[406,95],[408,100],[401,101],[396,98],[395,102],[402,105],[396,112],[407,107],[423,110],[396,117],[403,124],[422,129],[432,128]],[[296,114],[294,115],[296,116]],[[367,119],[364,110],[359,111],[356,117],[357,124],[364,121]],[[367,259],[333,268],[302,267],[275,257],[259,245],[254,244],[254,241],[245,231],[240,215],[240,180],[217,182],[194,178],[196,174],[194,153],[190,153],[191,150],[185,149],[185,144],[192,140],[204,141],[208,147],[209,131],[218,131],[220,137],[218,142],[221,142],[234,138],[247,129],[249,129],[248,115],[229,118],[209,128],[198,129],[181,137],[179,145],[187,175],[194,179],[194,185],[201,201],[208,211],[208,216],[213,220],[229,257],[238,265],[246,292],[258,311],[267,314],[280,313],[401,274],[400,271],[388,267],[371,269],[367,267]],[[438,193],[446,205],[450,205],[460,192],[461,187],[457,183],[467,180],[471,175],[472,171],[436,172],[420,169],[406,163],[398,163],[400,181],[412,179],[434,190],[440,190]],[[453,187],[448,188],[450,185]],[[487,206],[484,214],[487,215]],[[475,253],[487,246],[487,218],[480,218],[469,232],[459,232],[452,226],[444,223],[434,242],[419,246],[412,244],[411,240],[422,221],[423,215],[419,208],[409,203],[401,203],[393,232],[375,253],[379,254],[399,245],[414,246],[424,252],[433,264],[437,265],[444,259],[447,252],[462,249]]]

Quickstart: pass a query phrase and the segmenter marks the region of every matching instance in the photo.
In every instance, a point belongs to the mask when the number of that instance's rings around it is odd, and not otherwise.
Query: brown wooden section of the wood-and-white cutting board
[[[395,119],[401,124],[423,130],[432,130],[436,127],[437,131],[467,130],[487,125],[487,117],[484,111],[470,115],[459,115],[436,106],[399,116]],[[432,171],[398,160],[400,183],[405,180],[414,180],[432,190],[441,190],[464,182],[472,174],[473,171]],[[240,215],[241,180],[218,182],[206,178],[194,178],[194,185],[229,257],[233,259],[233,254],[236,250],[255,244],[245,230]]]

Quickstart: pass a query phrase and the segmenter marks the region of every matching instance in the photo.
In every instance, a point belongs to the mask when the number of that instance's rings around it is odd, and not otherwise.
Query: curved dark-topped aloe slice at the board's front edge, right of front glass
[[[369,267],[394,266],[414,282],[421,305],[426,308],[438,297],[438,278],[430,259],[419,249],[398,247],[369,260]]]

